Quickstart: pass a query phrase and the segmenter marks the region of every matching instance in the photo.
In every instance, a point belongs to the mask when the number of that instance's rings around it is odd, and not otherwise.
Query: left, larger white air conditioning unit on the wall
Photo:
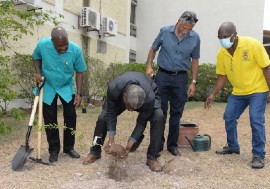
[[[83,7],[80,26],[100,30],[100,13],[90,7]]]

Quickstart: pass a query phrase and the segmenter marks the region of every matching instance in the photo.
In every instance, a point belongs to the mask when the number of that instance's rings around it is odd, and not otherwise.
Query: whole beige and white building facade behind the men
[[[110,63],[145,63],[148,51],[163,26],[173,25],[185,10],[197,13],[194,30],[201,37],[201,63],[215,64],[219,49],[218,27],[225,21],[235,23],[238,35],[252,36],[263,42],[264,0],[14,0],[29,2],[42,11],[52,10],[64,16],[61,24],[69,39],[79,44],[86,55]],[[81,12],[89,7],[99,14],[99,29],[82,27]],[[89,16],[89,14],[88,14]],[[116,21],[115,35],[104,33],[104,19]],[[31,54],[37,40],[49,36],[53,28],[46,24],[34,36],[19,41],[20,53]],[[29,44],[29,41],[31,42]]]

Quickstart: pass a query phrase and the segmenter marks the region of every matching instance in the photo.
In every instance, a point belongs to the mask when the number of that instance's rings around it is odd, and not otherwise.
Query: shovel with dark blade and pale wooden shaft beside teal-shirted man
[[[39,101],[39,93],[40,93],[43,85],[44,85],[44,81],[40,85],[37,84],[37,94],[36,94],[35,99],[34,99],[34,105],[32,107],[30,121],[28,124],[28,129],[27,129],[26,139],[25,139],[25,146],[21,145],[21,147],[18,149],[17,153],[15,154],[15,156],[12,159],[11,168],[13,171],[17,171],[17,170],[21,169],[24,166],[27,158],[31,155],[31,153],[34,150],[34,148],[29,147],[29,137],[30,137],[33,122],[35,119],[37,104]]]

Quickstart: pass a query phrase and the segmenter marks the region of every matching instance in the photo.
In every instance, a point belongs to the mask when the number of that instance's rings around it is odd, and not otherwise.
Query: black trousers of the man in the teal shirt
[[[60,99],[63,105],[64,127],[58,126],[57,121],[57,99]],[[64,128],[63,150],[72,150],[75,144],[75,130],[76,130],[76,110],[74,105],[75,95],[72,100],[67,103],[58,94],[55,95],[51,105],[43,103],[43,117],[45,123],[45,131],[47,141],[49,143],[49,153],[59,153],[61,145],[59,138],[59,129]],[[66,128],[65,128],[66,127]]]

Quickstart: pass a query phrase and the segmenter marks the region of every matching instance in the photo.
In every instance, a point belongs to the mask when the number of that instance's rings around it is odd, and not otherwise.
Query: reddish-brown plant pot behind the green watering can
[[[196,124],[180,124],[179,126],[179,137],[178,145],[182,148],[191,147],[188,140],[185,138],[187,136],[190,141],[199,133],[199,126]]]

